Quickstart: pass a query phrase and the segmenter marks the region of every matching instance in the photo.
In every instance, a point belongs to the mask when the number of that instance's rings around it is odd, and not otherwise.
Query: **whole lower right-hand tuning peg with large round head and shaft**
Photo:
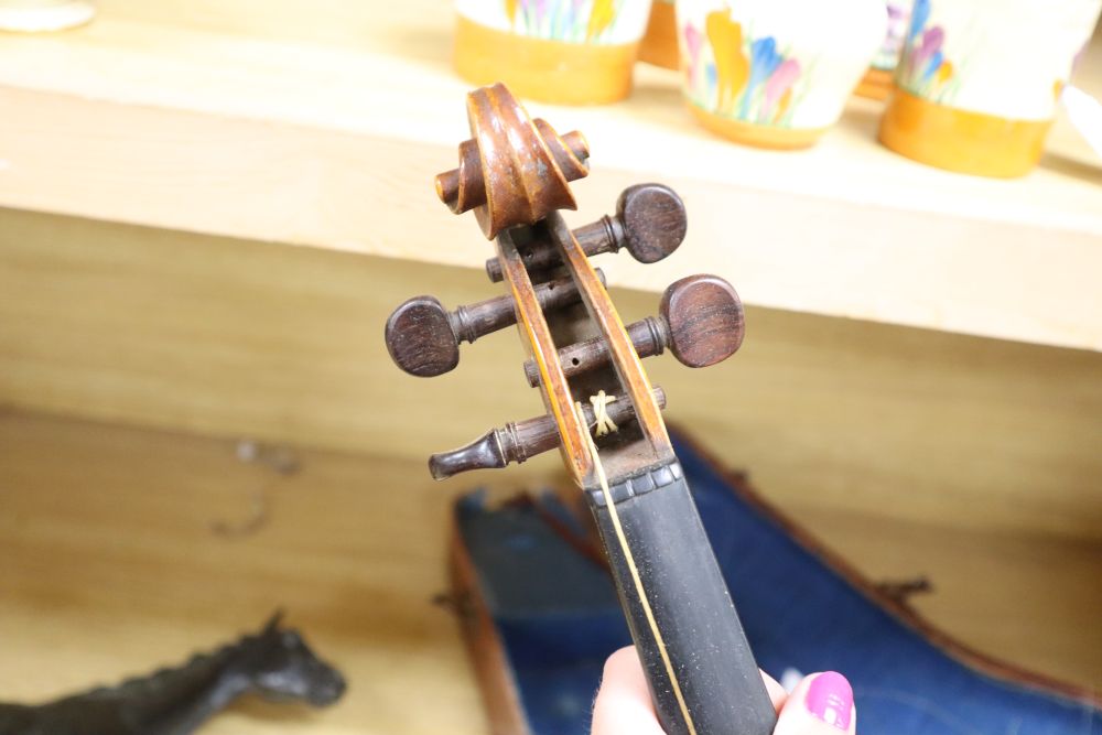
[[[727,359],[743,344],[743,302],[734,288],[719,275],[690,275],[666,289],[659,315],[627,327],[639,357],[669,349],[682,365],[707,367]],[[608,363],[603,339],[579,342],[559,350],[563,374],[570,378]],[[539,385],[533,360],[525,363],[528,385]]]

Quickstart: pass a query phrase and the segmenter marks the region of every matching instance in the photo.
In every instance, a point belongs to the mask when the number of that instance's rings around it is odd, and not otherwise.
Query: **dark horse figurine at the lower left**
[[[345,690],[277,614],[258,635],[174,669],[37,706],[0,704],[0,735],[188,735],[244,694],[325,706]]]

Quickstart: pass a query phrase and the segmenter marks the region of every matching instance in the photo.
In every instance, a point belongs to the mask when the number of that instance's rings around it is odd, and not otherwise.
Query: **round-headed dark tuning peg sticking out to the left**
[[[604,283],[605,275],[597,270]],[[577,288],[569,278],[536,287],[540,309],[550,311],[577,303]],[[460,364],[460,343],[517,323],[511,295],[501,295],[447,311],[434,296],[415,296],[387,320],[387,349],[395,364],[410,375],[431,378]]]

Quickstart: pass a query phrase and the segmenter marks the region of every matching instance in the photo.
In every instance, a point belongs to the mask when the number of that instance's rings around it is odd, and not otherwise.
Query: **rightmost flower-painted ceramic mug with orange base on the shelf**
[[[880,141],[942,169],[1019,176],[1102,0],[916,0]]]

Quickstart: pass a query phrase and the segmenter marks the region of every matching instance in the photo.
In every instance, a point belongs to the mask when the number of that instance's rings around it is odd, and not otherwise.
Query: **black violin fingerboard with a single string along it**
[[[680,463],[586,498],[666,732],[771,733],[776,712]]]

